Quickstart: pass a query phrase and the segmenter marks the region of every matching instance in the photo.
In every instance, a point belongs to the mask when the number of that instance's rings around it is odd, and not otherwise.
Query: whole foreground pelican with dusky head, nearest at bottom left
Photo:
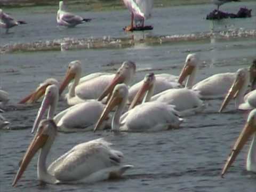
[[[86,116],[86,114],[85,114]],[[46,158],[57,135],[52,119],[44,119],[31,141],[12,186],[15,186],[33,156],[39,151],[37,178],[40,181],[57,183],[97,182],[118,178],[132,165],[122,165],[121,151],[110,148],[111,143],[96,139],[76,145],[46,168]]]

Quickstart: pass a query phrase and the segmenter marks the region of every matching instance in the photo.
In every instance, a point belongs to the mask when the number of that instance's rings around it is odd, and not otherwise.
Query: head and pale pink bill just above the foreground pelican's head
[[[53,118],[54,113],[55,113],[55,109],[57,107],[57,103],[59,100],[59,89],[56,85],[50,85],[46,88],[45,94],[44,94],[44,99],[43,102],[41,104],[41,107],[38,110],[34,125],[33,125],[33,129],[32,129],[32,133],[35,131],[35,129],[37,128],[39,122],[41,121],[41,119],[44,116],[44,113],[46,111],[47,108],[49,108],[48,111],[48,115],[47,118]]]

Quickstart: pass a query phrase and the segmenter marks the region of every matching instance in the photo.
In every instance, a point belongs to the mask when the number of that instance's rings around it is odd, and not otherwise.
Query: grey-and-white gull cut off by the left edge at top
[[[2,9],[0,9],[0,27],[3,27],[6,29],[5,33],[9,33],[9,29],[22,25],[22,24],[27,24],[25,21],[16,21],[14,20],[9,14],[4,13]]]

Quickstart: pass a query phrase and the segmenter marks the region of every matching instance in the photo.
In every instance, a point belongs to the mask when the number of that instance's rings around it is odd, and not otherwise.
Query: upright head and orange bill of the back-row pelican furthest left
[[[82,74],[82,63],[79,60],[71,61],[68,65],[68,70],[66,73],[66,76],[60,85],[60,95],[65,90],[69,82],[71,82],[73,79],[79,82],[79,79]]]

